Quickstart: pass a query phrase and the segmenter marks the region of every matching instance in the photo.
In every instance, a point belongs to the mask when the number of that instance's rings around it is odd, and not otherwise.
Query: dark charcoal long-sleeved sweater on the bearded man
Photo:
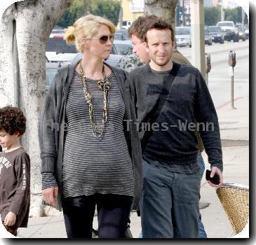
[[[205,80],[193,66],[174,63],[173,67],[177,71],[169,81],[159,79],[149,64],[129,73],[140,123],[142,154],[146,158],[168,165],[189,165],[197,162],[198,141],[194,133],[197,128],[208,154],[208,162],[211,167],[222,170],[220,128]],[[149,128],[147,123],[159,108],[159,102],[166,90],[165,83],[172,79],[173,83],[159,117],[151,122]],[[144,137],[148,135],[145,132],[149,129],[151,136],[145,141]]]

